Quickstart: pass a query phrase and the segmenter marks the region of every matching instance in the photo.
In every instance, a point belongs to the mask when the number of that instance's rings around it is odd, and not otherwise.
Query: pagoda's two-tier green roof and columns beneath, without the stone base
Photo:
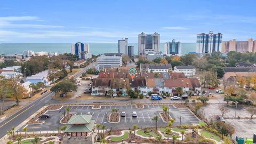
[[[66,130],[66,136],[69,137],[87,137],[93,132],[95,120],[91,120],[92,115],[73,115],[69,121]]]

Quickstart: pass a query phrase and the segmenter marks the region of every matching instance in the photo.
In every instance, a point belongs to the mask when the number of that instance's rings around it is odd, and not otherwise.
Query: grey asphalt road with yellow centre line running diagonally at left
[[[82,73],[84,73],[87,69],[92,68],[94,63],[90,63],[87,67],[83,68],[79,73],[76,73],[73,77],[77,78]],[[9,118],[6,118],[3,122],[0,123],[0,138],[2,138],[6,131],[11,130],[11,127],[18,126],[20,123],[25,121],[29,116],[33,115],[37,110],[42,108],[43,106],[50,105],[53,103],[56,103],[57,101],[52,99],[52,96],[54,95],[53,92],[47,93],[43,95],[42,98],[39,98],[33,102],[31,102],[28,106],[22,108],[17,113],[13,114]]]

